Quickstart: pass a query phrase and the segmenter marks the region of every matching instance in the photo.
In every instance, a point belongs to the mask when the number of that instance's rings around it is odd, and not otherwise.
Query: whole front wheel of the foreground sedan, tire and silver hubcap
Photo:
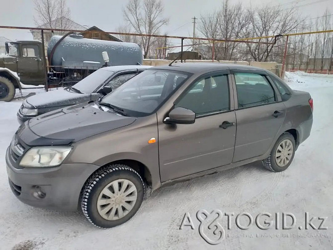
[[[97,170],[83,188],[84,216],[100,228],[123,224],[139,210],[145,186],[141,176],[123,164]]]

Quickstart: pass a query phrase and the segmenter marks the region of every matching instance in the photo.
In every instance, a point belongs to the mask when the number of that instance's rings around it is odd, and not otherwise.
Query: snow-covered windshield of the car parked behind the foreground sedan
[[[113,71],[99,69],[87,77],[83,78],[80,82],[73,87],[80,90],[84,94],[91,94],[99,86],[101,86],[111,75]]]

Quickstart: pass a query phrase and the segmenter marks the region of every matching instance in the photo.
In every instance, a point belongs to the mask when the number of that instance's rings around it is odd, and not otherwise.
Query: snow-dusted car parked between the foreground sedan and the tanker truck
[[[28,97],[23,101],[17,112],[17,121],[22,124],[31,118],[53,110],[95,101],[100,96],[108,94],[133,76],[151,67],[141,65],[105,67],[83,78],[73,87],[52,90]]]

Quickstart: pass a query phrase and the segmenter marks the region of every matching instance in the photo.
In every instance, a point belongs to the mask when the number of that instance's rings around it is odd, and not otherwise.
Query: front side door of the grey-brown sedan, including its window
[[[236,116],[230,81],[228,71],[201,76],[174,102],[174,108],[195,112],[195,123],[159,123],[162,182],[232,162]]]

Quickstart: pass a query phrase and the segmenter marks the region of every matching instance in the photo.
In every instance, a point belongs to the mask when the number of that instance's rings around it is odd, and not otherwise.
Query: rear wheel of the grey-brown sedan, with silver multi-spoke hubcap
[[[273,172],[286,170],[294,159],[295,138],[290,133],[283,133],[277,139],[268,158],[262,161],[263,166]]]

